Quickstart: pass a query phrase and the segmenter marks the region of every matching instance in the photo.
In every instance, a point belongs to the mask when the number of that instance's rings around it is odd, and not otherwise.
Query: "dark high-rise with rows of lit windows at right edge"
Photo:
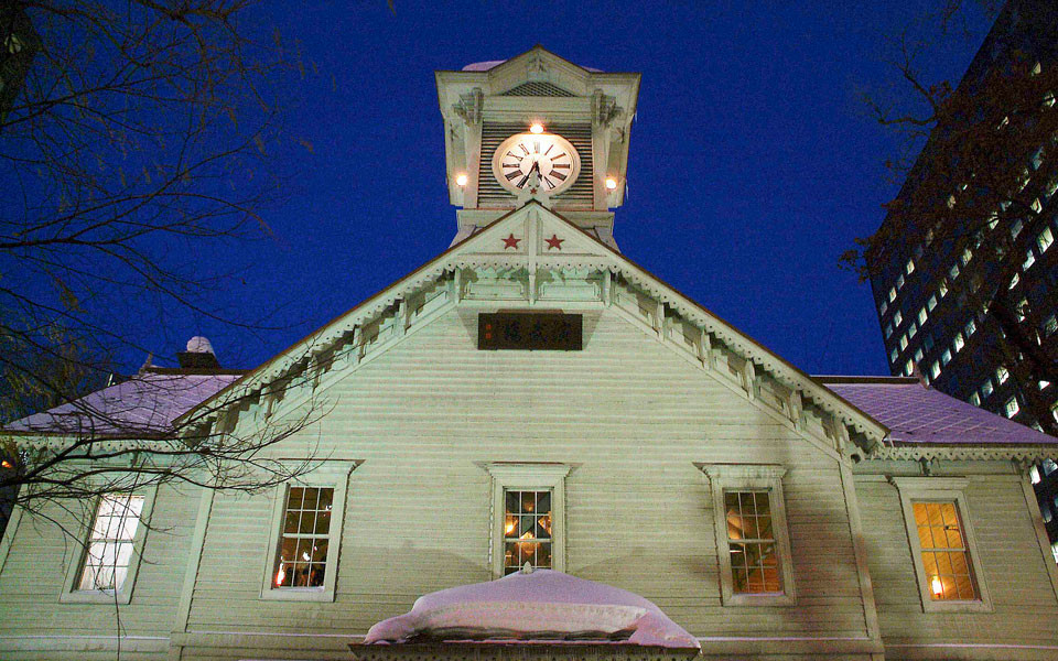
[[[1058,415],[1058,383],[1025,367],[1058,356],[1056,75],[1058,9],[1010,0],[867,259],[890,372],[1037,430]],[[1058,470],[1033,475],[1055,543]]]

